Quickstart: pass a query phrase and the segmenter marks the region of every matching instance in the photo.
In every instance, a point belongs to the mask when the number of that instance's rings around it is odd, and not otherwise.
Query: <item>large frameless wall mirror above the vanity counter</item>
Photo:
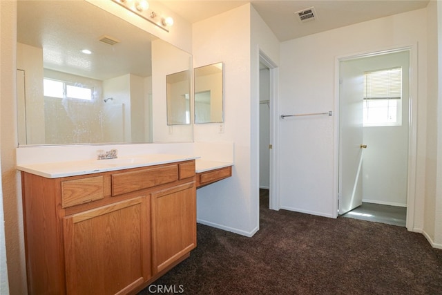
[[[191,69],[189,53],[87,1],[17,6],[19,145],[193,140],[191,126],[162,134],[166,93],[155,92],[165,66]]]

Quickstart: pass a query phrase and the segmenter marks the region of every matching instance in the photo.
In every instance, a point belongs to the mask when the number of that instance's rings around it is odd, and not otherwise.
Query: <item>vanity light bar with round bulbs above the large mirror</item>
[[[158,15],[157,12],[153,10],[149,10],[149,4],[146,0],[112,0],[115,3],[118,3],[120,6],[123,6],[127,10],[131,10],[135,15],[146,19],[153,23],[158,28],[162,28],[166,32],[169,32],[169,28],[173,26],[173,18],[172,17],[164,17],[162,15]]]

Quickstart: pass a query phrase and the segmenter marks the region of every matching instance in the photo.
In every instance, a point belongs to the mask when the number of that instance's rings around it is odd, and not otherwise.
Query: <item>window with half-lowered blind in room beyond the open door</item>
[[[363,126],[402,124],[402,68],[364,73]]]

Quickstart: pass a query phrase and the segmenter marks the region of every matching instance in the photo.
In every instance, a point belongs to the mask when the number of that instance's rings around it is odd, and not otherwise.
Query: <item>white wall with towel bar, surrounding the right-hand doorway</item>
[[[421,196],[424,193],[424,177],[421,175],[425,173],[425,19],[426,9],[421,9],[285,41],[281,44],[280,63],[280,112],[335,111],[337,57],[418,44],[419,93],[418,97],[414,97],[419,105],[418,122],[414,122],[418,126],[419,157],[415,229],[423,227]],[[336,216],[336,128],[334,117],[328,116],[280,121],[278,173],[282,208]]]

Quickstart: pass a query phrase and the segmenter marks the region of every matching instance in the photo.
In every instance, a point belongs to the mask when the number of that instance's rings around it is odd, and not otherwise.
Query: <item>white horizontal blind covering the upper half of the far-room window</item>
[[[402,68],[364,73],[364,99],[401,99]]]

